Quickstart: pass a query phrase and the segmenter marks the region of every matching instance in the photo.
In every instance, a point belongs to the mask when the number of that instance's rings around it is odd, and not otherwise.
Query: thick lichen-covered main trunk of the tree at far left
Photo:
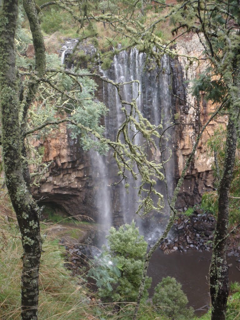
[[[26,1],[25,1],[26,2]],[[29,2],[29,1],[28,1]],[[31,1],[33,4],[33,1]],[[30,98],[21,100],[20,77],[15,67],[14,36],[18,0],[0,2],[0,111],[5,179],[16,212],[23,245],[21,319],[37,320],[38,270],[41,257],[39,208],[29,189],[24,145],[24,119]],[[33,12],[34,13],[34,12]],[[29,94],[33,87],[29,87]],[[24,105],[25,103],[25,105]],[[24,105],[24,107],[23,107]],[[20,116],[21,113],[21,116]]]

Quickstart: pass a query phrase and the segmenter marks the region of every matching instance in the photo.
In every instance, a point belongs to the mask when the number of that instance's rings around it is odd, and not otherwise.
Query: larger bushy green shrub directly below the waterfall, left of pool
[[[109,247],[104,248],[103,263],[98,262],[90,271],[99,286],[99,296],[104,301],[136,301],[147,243],[134,221],[119,230],[111,227],[107,239]],[[104,276],[108,283],[105,283]],[[143,299],[147,298],[150,284],[151,279],[147,278]]]

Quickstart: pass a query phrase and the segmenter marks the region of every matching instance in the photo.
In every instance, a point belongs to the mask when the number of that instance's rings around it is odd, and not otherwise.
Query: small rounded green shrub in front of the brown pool
[[[193,317],[193,308],[186,308],[188,298],[175,278],[166,277],[155,287],[153,304],[159,313],[170,319],[185,320]]]

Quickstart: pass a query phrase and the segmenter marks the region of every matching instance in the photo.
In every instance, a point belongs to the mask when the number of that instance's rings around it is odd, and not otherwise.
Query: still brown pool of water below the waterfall
[[[210,305],[208,272],[212,252],[188,250],[188,252],[172,252],[164,254],[156,250],[150,260],[148,276],[152,277],[149,297],[153,295],[154,287],[166,276],[177,279],[182,284],[182,290],[187,294],[189,306],[194,310]],[[240,272],[236,266],[236,258],[228,257],[229,281],[240,282]]]

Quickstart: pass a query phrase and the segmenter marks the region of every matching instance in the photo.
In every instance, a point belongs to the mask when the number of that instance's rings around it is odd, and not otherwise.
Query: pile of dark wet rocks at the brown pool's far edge
[[[187,251],[195,248],[199,251],[212,248],[215,218],[209,213],[194,212],[191,216],[180,214],[169,233],[169,237],[160,244],[164,253],[177,250]]]

